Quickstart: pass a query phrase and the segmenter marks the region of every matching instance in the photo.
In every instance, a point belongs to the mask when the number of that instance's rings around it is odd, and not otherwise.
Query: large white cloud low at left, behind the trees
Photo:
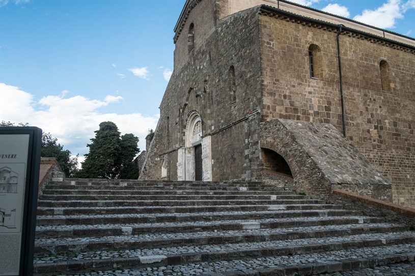
[[[144,116],[140,113],[115,114],[99,112],[100,107],[123,100],[121,96],[108,95],[103,100],[83,96],[63,98],[46,96],[38,102],[33,95],[19,87],[0,83],[0,120],[29,122],[30,126],[41,128],[58,138],[58,142],[79,156],[89,151],[88,143],[95,137],[102,121],[113,121],[122,134],[132,133],[140,138],[139,147],[145,150],[145,137],[149,129],[155,129],[159,114]]]

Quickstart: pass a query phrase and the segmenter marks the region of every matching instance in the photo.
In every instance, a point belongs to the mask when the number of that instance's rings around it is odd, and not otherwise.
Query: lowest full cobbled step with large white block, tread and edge
[[[87,251],[64,252],[50,256],[50,254],[35,255],[36,272],[58,272],[60,270],[83,269],[112,269],[118,266],[148,266],[178,265],[200,262],[220,262],[229,260],[241,260],[246,258],[294,256],[311,253],[344,252],[351,249],[363,249],[383,247],[374,252],[383,253],[385,247],[401,244],[400,247],[412,254],[415,252],[414,232],[394,233],[368,233],[351,236],[329,238],[306,238],[294,240],[275,240],[264,242],[241,242],[228,244],[209,244],[204,246],[178,246],[157,249],[136,249],[118,251]],[[407,245],[406,245],[407,244]],[[396,251],[394,251],[395,253]],[[373,256],[379,256],[374,254]],[[405,260],[408,255],[401,254]],[[395,256],[398,257],[398,256]],[[319,261],[318,259],[315,262]],[[320,260],[321,262],[321,260]]]

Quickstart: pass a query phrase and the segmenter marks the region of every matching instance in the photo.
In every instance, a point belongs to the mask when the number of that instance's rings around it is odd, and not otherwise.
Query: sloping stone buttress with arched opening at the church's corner
[[[329,124],[275,119],[261,126],[261,147],[287,161],[296,191],[328,198],[331,189],[392,200],[391,184]]]

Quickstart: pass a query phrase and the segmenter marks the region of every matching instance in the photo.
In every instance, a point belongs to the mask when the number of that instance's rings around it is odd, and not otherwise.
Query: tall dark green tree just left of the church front
[[[140,151],[139,138],[133,134],[120,137],[114,122],[104,121],[95,131],[95,138],[88,144],[89,153],[85,155],[82,168],[76,174],[82,178],[137,178],[132,161]],[[136,170],[138,172],[138,168]]]

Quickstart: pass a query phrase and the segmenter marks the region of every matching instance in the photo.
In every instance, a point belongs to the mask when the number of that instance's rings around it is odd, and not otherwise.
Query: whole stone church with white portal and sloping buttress
[[[415,206],[414,39],[283,0],[187,0],[174,32],[140,179]]]

